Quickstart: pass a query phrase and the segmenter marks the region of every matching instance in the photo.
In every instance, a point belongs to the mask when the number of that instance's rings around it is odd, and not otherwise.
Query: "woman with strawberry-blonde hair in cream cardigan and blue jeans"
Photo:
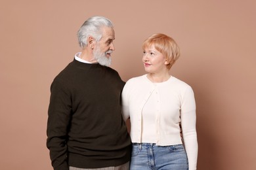
[[[142,46],[146,75],[131,78],[122,92],[123,118],[131,121],[130,169],[196,169],[198,142],[192,88],[172,76],[179,46],[154,34]],[[182,134],[181,134],[182,128]]]

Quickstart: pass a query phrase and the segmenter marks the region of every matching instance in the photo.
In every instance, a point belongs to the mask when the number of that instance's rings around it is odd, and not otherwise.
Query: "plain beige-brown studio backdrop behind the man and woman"
[[[173,76],[196,95],[198,169],[256,169],[255,0],[1,0],[0,169],[52,169],[46,148],[50,85],[79,52],[90,16],[114,22],[112,67],[123,80],[144,74],[141,44],[173,37]]]

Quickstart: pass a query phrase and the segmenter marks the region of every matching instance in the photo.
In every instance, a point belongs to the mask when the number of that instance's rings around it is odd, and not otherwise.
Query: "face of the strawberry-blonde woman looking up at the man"
[[[145,48],[143,51],[142,61],[144,63],[144,69],[148,73],[163,73],[167,69],[167,61],[165,56],[161,54],[154,46]]]

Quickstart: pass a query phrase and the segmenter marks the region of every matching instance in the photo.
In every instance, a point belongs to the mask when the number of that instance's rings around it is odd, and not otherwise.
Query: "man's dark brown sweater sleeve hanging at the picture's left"
[[[47,122],[47,148],[54,170],[68,170],[66,139],[72,102],[62,83],[54,80]]]

